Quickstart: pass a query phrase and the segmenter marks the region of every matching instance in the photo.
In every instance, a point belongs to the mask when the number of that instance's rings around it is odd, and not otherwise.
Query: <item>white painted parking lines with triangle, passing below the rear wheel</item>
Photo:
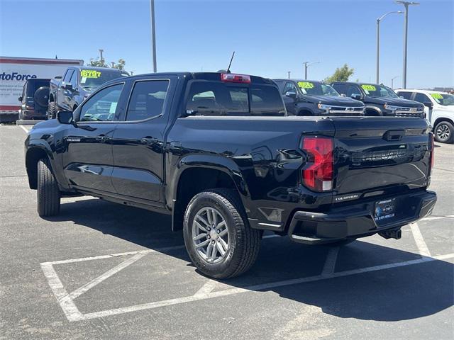
[[[267,235],[269,237],[275,237],[275,235]],[[269,238],[269,237],[264,237],[264,238]],[[167,250],[172,250],[172,249],[182,249],[184,246],[170,246],[166,248],[161,248],[161,249],[146,249],[146,250],[141,250],[141,251],[128,251],[124,253],[118,253],[118,254],[111,254],[111,255],[101,255],[101,256],[92,256],[92,257],[86,257],[86,258],[80,258],[80,259],[68,259],[68,260],[62,260],[62,261],[52,261],[52,262],[45,262],[45,263],[40,263],[41,268],[43,268],[43,272],[45,277],[48,280],[50,289],[52,290],[52,293],[54,293],[55,297],[57,298],[57,302],[60,304],[60,307],[62,308],[63,312],[65,313],[65,316],[70,322],[74,321],[82,321],[82,320],[87,320],[87,319],[96,319],[99,317],[106,317],[110,315],[116,315],[116,314],[124,314],[128,312],[136,312],[139,310],[150,310],[153,308],[157,307],[165,307],[165,306],[170,306],[170,305],[179,305],[181,303],[186,303],[186,302],[194,302],[194,301],[199,301],[199,300],[206,300],[206,299],[211,299],[214,297],[221,297],[221,296],[228,296],[228,295],[234,295],[234,294],[240,294],[240,293],[246,293],[250,291],[260,291],[260,290],[267,290],[270,288],[278,288],[278,287],[283,287],[287,285],[296,285],[299,283],[308,283],[308,282],[314,282],[314,281],[319,281],[319,280],[327,280],[330,278],[338,278],[338,277],[343,277],[343,276],[351,276],[359,273],[368,273],[372,271],[382,271],[385,269],[389,268],[397,268],[401,266],[410,266],[418,263],[424,263],[428,261],[436,261],[436,260],[442,260],[442,259],[450,259],[454,257],[453,254],[447,254],[447,255],[442,255],[442,256],[434,256],[434,257],[429,257],[429,256],[421,256],[421,259],[416,259],[416,260],[410,260],[410,261],[402,261],[402,262],[397,262],[397,263],[389,263],[389,264],[384,264],[384,265],[379,265],[379,266],[371,266],[371,267],[366,267],[366,268],[358,268],[358,269],[353,269],[349,271],[341,271],[341,272],[334,272],[334,266],[336,265],[336,259],[337,259],[337,254],[339,247],[333,248],[328,252],[328,257],[327,261],[325,263],[325,266],[323,267],[323,271],[320,275],[316,276],[309,276],[305,278],[296,278],[296,279],[290,279],[290,280],[281,280],[281,281],[275,281],[271,283],[262,283],[260,285],[250,285],[246,286],[243,288],[229,288],[226,290],[219,290],[216,292],[213,292],[216,281],[215,280],[209,280],[207,281],[194,295],[186,296],[186,297],[177,297],[174,299],[170,300],[162,300],[162,301],[156,301],[156,302],[150,302],[150,303],[145,303],[142,305],[133,305],[133,306],[128,306],[128,307],[120,307],[112,310],[103,310],[100,312],[90,312],[86,314],[82,314],[77,309],[77,306],[74,303],[74,299],[77,296],[80,296],[82,293],[87,292],[90,288],[94,287],[98,283],[102,282],[106,278],[114,275],[114,273],[118,273],[118,271],[121,271],[121,269],[126,268],[129,266],[131,263],[138,261],[138,259],[141,259],[143,256],[146,254],[155,254],[160,251],[167,251]],[[63,286],[60,278],[58,278],[57,273],[55,272],[55,269],[53,268],[54,265],[56,264],[62,264],[62,263],[75,263],[75,262],[81,262],[81,261],[93,261],[96,259],[109,259],[113,258],[116,256],[127,256],[127,255],[133,255],[131,259],[128,259],[122,263],[120,263],[118,266],[112,268],[111,270],[107,271],[103,275],[99,276],[98,278],[95,278],[94,280],[90,281],[89,283],[83,285],[81,288],[78,288],[77,290],[74,290],[74,292],[68,294],[67,291],[65,290],[65,287]],[[329,259],[329,261],[328,261]]]

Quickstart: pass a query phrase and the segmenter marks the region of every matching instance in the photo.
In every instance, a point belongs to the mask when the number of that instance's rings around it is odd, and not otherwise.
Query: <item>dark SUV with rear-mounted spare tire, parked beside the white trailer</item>
[[[49,103],[50,79],[32,78],[23,85],[19,119],[45,119]]]

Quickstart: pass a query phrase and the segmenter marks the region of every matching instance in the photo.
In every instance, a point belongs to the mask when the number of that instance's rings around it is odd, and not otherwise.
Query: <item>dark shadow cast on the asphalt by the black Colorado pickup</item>
[[[73,221],[148,249],[160,250],[184,244],[182,232],[170,231],[170,216],[97,199],[63,203],[60,215],[48,220]],[[408,234],[406,237],[411,236]],[[404,242],[404,239],[399,242]],[[421,258],[419,254],[391,246],[362,241],[343,246],[338,252],[335,271]],[[192,266],[184,249],[160,251]],[[272,290],[281,297],[317,306],[324,313],[336,317],[377,321],[416,319],[436,314],[454,304],[454,265],[441,260],[360,275],[271,286],[277,281],[319,276],[329,251],[329,246],[304,246],[289,241],[287,237],[265,238],[255,266],[239,278],[219,280],[217,290]],[[257,285],[265,285],[265,288],[254,287]]]

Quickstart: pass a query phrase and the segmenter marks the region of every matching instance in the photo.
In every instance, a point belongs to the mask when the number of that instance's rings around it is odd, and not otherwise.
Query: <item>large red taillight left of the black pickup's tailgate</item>
[[[307,154],[304,185],[313,191],[333,190],[333,139],[304,137],[301,148]]]

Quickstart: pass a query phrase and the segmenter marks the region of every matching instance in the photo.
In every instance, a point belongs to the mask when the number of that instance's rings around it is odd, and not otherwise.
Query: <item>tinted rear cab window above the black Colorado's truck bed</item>
[[[186,115],[285,115],[277,86],[233,81],[189,81]]]

